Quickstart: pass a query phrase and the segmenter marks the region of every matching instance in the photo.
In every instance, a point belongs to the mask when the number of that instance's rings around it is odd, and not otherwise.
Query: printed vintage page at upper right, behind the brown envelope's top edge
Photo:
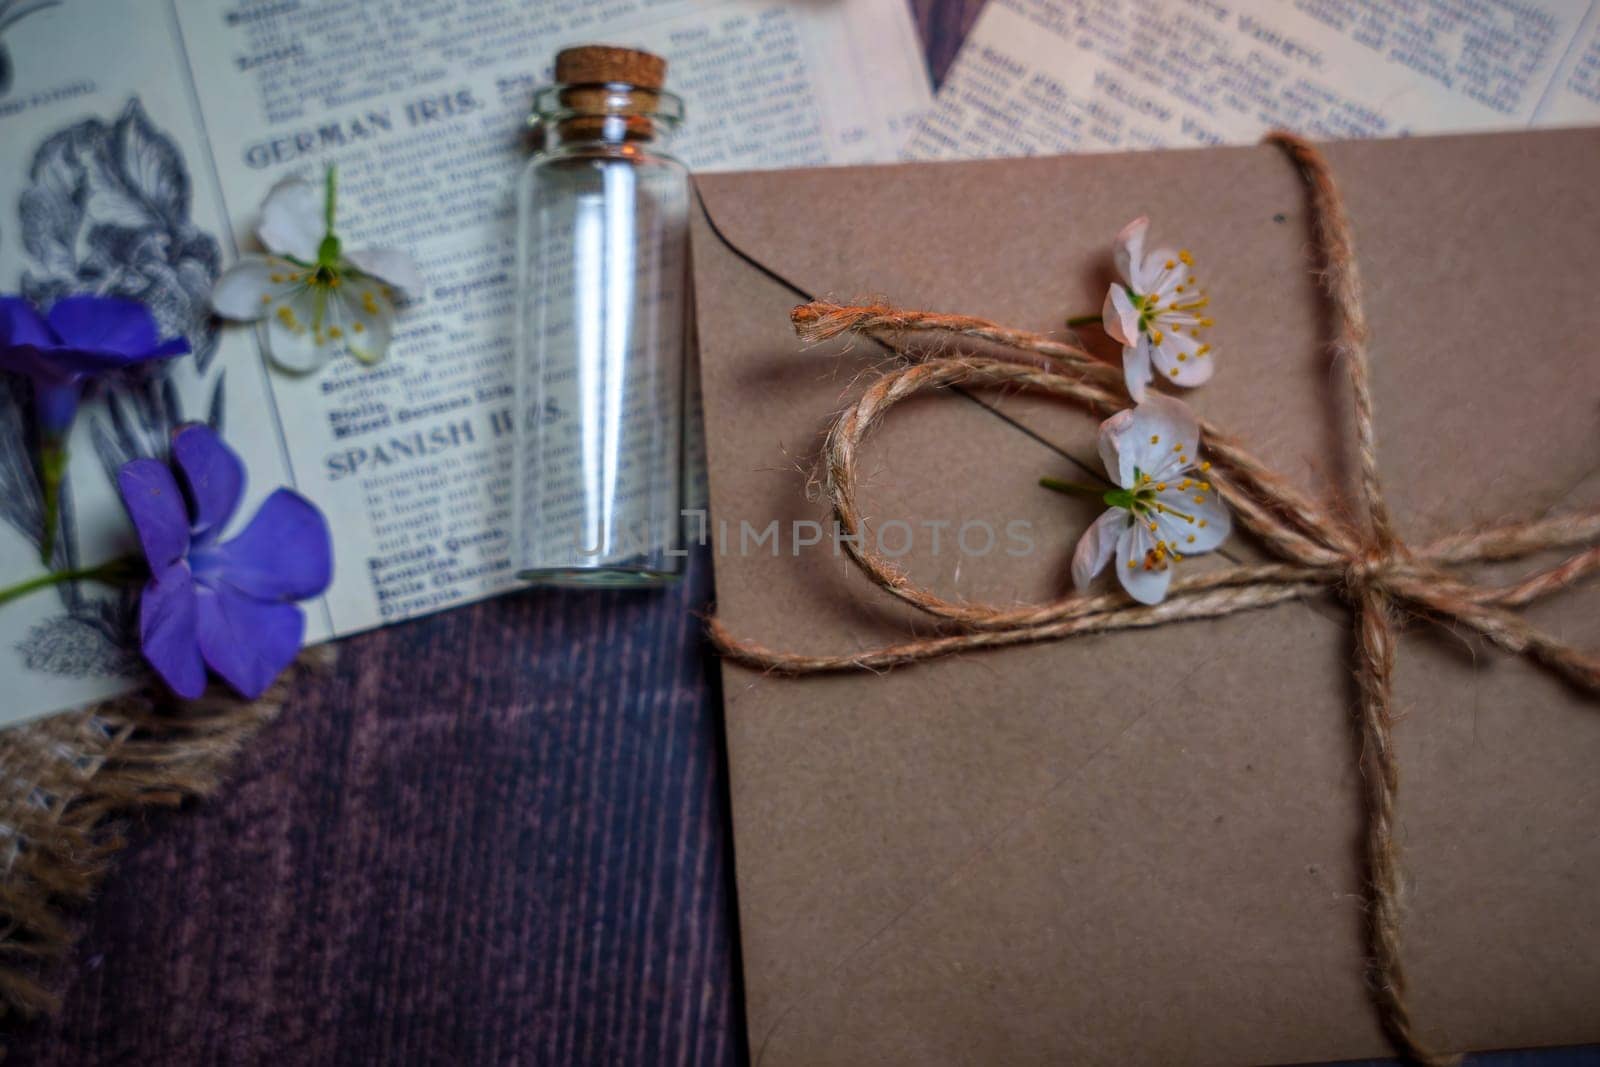
[[[1600,122],[1592,0],[990,0],[910,158]]]

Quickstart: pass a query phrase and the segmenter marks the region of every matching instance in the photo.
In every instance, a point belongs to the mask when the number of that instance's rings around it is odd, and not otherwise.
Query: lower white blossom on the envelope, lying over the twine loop
[[[1234,520],[1197,459],[1200,426],[1189,405],[1150,395],[1101,424],[1101,462],[1120,486],[1104,494],[1109,509],[1078,539],[1072,581],[1078,589],[1115,561],[1134,600],[1160,603],[1173,563],[1210,552],[1227,539]]]

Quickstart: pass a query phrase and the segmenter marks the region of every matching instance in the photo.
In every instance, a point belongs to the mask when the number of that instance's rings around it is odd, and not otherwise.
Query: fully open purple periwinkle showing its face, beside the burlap
[[[134,459],[117,474],[117,488],[150,563],[139,600],[144,657],[182,697],[205,691],[206,667],[240,696],[261,696],[301,649],[306,616],[294,601],[333,581],[322,512],[277,490],[232,541],[221,541],[245,467],[197,422],[173,434],[171,467]]]

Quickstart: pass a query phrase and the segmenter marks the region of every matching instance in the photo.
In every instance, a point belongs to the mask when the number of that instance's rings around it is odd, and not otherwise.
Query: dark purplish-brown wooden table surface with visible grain
[[[982,0],[912,6],[938,80]],[[744,1062],[710,597],[701,553],[341,641],[133,829],[8,1062]]]

